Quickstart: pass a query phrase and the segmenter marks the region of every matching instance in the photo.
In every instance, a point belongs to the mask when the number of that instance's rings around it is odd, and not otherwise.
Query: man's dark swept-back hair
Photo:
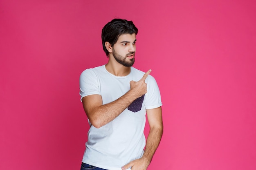
[[[105,42],[109,42],[111,46],[113,46],[117,42],[120,35],[133,33],[137,35],[138,29],[132,21],[113,19],[112,21],[108,22],[108,24],[103,27],[101,32],[103,50],[107,57],[109,52],[106,49]]]

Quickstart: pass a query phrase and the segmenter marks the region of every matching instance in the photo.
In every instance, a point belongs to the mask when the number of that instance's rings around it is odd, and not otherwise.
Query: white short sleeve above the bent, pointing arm
[[[98,94],[100,95],[99,92],[99,83],[97,80],[97,75],[92,71],[91,68],[86,69],[83,71],[80,75],[79,79],[79,86],[80,86],[80,96],[81,96],[81,101],[82,98],[88,95],[95,95]]]

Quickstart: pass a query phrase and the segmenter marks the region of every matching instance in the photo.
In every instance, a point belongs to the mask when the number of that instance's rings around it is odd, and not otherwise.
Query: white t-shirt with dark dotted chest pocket
[[[130,81],[139,81],[145,73],[131,67],[127,76],[109,73],[105,65],[86,69],[80,76],[81,99],[87,95],[101,95],[103,104],[115,101],[130,90]],[[134,159],[141,158],[146,144],[144,127],[146,109],[162,106],[155,79],[148,75],[147,93],[136,99],[118,117],[101,128],[90,124],[83,163],[107,170],[121,170]]]

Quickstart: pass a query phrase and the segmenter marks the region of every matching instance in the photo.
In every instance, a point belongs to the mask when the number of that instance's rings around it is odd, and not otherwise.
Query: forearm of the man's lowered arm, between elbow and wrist
[[[155,154],[155,151],[157,150],[157,147],[159,146],[159,143],[161,141],[163,134],[163,126],[154,127],[150,129],[150,132],[148,134],[147,142],[146,142],[146,148],[144,151],[144,154],[141,159],[144,159],[146,161],[146,164],[149,165],[153,155]]]

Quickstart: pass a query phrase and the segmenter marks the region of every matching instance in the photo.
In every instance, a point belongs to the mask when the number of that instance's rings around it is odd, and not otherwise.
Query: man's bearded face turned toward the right
[[[113,46],[112,54],[117,62],[123,66],[130,67],[134,64],[136,51],[136,35],[122,34],[119,36],[117,43]]]

